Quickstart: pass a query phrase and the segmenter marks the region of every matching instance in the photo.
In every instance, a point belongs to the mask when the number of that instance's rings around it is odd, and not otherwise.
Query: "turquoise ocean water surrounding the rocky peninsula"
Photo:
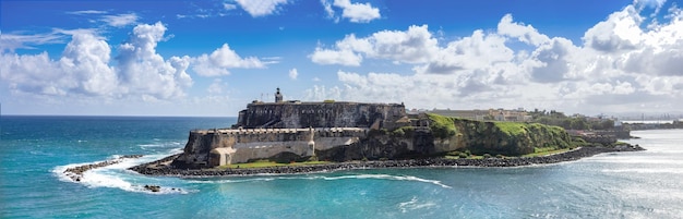
[[[682,218],[683,130],[646,151],[520,168],[356,170],[180,179],[125,170],[235,118],[0,117],[0,218]],[[69,167],[140,159],[87,171]],[[143,190],[161,185],[160,193]],[[179,190],[171,190],[179,188]]]

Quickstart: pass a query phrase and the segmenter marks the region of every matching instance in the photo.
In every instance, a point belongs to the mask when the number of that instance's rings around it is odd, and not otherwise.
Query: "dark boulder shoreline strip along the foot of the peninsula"
[[[328,172],[338,170],[356,169],[387,169],[387,168],[417,168],[417,167],[520,167],[530,165],[547,165],[564,161],[578,160],[602,153],[638,151],[644,150],[638,145],[621,147],[582,147],[566,153],[540,156],[540,157],[513,157],[513,158],[486,158],[486,159],[447,159],[447,158],[422,158],[409,160],[386,161],[349,161],[311,166],[286,166],[271,168],[244,168],[244,169],[179,169],[170,166],[178,155],[164,159],[143,163],[130,168],[135,172],[147,175],[172,175],[172,177],[223,177],[223,175],[256,175],[256,174],[298,174],[311,172]]]

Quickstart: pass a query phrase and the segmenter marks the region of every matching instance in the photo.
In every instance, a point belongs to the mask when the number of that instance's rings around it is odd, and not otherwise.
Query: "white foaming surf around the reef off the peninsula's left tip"
[[[93,188],[112,187],[112,188],[119,188],[119,190],[127,191],[127,192],[148,193],[148,194],[188,194],[190,192],[195,192],[195,191],[189,191],[189,190],[184,190],[181,187],[172,186],[169,184],[165,185],[164,182],[160,181],[159,179],[148,178],[148,177],[137,174],[135,172],[128,170],[128,168],[131,168],[133,166],[149,162],[149,161],[160,159],[169,155],[177,154],[179,150],[181,149],[176,148],[165,154],[146,155],[136,159],[121,158],[120,155],[112,155],[110,156],[110,159],[107,159],[107,160],[121,159],[121,161],[118,163],[110,165],[110,166],[87,170],[83,172],[83,174],[79,178],[80,181],[73,180],[75,178],[72,178],[72,177],[75,173],[65,172],[65,170],[69,168],[94,165],[94,163],[103,162],[106,160],[57,166],[52,169],[51,172],[55,175],[57,175],[57,178],[62,182],[79,183],[79,184],[83,184],[87,187],[93,187]],[[144,186],[148,184],[160,185],[159,192],[152,192],[149,190],[146,190]]]

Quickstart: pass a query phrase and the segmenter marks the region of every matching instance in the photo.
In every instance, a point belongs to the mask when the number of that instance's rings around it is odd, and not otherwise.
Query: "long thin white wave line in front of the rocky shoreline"
[[[373,180],[393,180],[393,181],[414,181],[430,183],[439,185],[444,188],[452,188],[448,185],[441,183],[436,180],[427,180],[412,175],[390,175],[390,174],[354,174],[354,175],[339,175],[339,177],[325,177],[325,175],[310,175],[310,177],[272,177],[272,178],[252,178],[252,179],[235,179],[235,180],[192,180],[190,183],[244,183],[244,182],[259,182],[259,181],[273,181],[273,180],[352,180],[352,179],[373,179]]]

